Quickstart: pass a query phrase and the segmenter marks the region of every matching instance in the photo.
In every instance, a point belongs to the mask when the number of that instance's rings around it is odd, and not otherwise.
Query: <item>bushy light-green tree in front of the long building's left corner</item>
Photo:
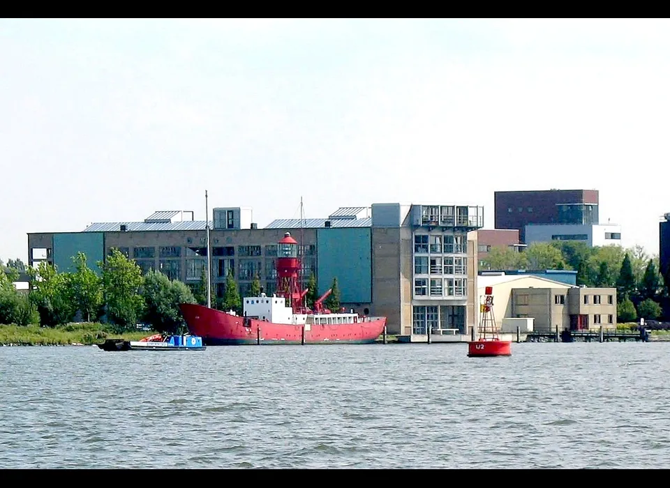
[[[69,273],[58,273],[52,264],[40,262],[38,268],[27,268],[31,290],[29,298],[37,308],[43,326],[57,326],[73,320],[77,307],[73,304]]]

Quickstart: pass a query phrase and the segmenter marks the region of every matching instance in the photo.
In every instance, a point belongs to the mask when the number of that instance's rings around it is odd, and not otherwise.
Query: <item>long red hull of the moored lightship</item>
[[[188,331],[202,337],[207,346],[245,344],[370,344],[386,325],[385,317],[361,319],[357,323],[292,325],[245,319],[220,310],[182,303]],[[327,317],[327,315],[317,316]]]

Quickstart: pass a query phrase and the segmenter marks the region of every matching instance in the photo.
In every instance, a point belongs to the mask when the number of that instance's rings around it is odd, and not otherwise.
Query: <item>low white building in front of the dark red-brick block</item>
[[[551,241],[582,241],[589,247],[621,245],[621,226],[617,224],[528,224],[526,244]]]

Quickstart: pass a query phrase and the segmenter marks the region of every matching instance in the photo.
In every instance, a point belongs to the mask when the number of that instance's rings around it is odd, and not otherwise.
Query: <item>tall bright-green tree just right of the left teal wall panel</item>
[[[142,269],[116,248],[112,248],[105,261],[98,261],[98,267],[102,270],[107,321],[121,330],[135,326],[144,307],[140,295]]]

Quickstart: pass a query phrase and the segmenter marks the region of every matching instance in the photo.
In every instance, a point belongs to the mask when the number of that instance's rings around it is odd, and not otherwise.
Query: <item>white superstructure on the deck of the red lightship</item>
[[[265,293],[261,293],[261,296],[244,297],[242,306],[244,317],[272,323],[335,325],[338,323],[358,323],[363,321],[354,312],[345,314],[294,314],[293,308],[286,306],[285,298],[266,296]]]

